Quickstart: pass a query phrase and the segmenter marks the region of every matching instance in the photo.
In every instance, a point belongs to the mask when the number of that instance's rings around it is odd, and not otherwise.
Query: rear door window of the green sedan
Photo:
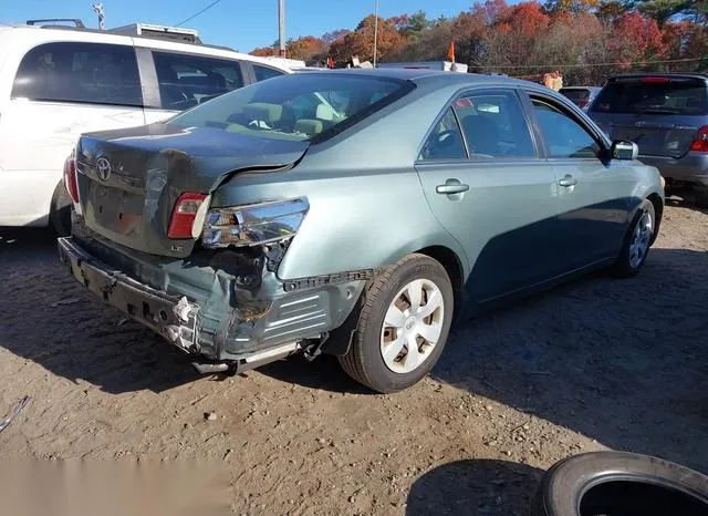
[[[529,125],[513,92],[480,92],[452,104],[470,158],[535,157]]]

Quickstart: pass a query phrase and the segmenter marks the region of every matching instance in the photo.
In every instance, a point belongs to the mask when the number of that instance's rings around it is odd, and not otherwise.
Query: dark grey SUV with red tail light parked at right
[[[688,186],[708,207],[708,75],[632,74],[608,79],[589,109],[612,140],[639,147],[668,190]]]

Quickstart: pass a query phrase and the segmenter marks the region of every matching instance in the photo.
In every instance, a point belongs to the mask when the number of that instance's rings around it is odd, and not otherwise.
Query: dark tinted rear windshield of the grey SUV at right
[[[600,93],[598,113],[708,114],[708,89],[698,80],[611,82]]]

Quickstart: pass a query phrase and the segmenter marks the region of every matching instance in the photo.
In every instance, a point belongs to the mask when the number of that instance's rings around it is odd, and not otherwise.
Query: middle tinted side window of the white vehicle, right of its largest
[[[153,52],[162,107],[183,111],[243,86],[238,61]]]

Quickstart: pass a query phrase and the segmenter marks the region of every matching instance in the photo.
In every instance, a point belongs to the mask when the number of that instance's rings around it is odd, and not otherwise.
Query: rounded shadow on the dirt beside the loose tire
[[[430,514],[514,516],[529,512],[542,469],[507,461],[442,464],[415,481],[406,516]]]

